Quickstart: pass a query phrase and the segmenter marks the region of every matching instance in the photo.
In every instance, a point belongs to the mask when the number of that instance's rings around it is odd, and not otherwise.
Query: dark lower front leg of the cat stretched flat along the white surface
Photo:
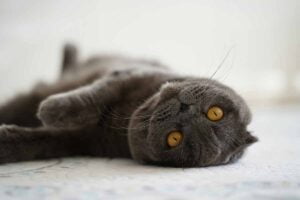
[[[0,126],[0,163],[68,156],[126,157],[127,136],[101,126],[81,129]]]

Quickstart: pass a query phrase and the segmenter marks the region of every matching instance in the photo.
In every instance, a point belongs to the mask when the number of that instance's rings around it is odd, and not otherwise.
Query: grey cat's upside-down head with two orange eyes
[[[175,167],[219,165],[240,158],[257,141],[250,111],[230,88],[209,79],[166,83],[133,114],[134,159]]]

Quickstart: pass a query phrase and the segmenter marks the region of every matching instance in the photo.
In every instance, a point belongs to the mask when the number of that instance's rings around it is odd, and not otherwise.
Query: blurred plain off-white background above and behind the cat
[[[199,76],[222,65],[215,79],[250,104],[297,104],[299,10],[298,0],[1,0],[1,99],[54,81],[74,42],[82,59],[121,53]]]

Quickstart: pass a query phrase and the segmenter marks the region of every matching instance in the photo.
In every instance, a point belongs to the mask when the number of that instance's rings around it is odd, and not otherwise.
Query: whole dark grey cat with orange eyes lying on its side
[[[257,141],[251,113],[231,88],[156,61],[64,48],[59,79],[0,106],[0,163],[69,156],[143,164],[233,163]]]

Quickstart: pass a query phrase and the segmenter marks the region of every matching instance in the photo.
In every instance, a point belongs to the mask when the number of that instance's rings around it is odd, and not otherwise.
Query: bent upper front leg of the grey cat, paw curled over
[[[97,124],[106,105],[121,98],[122,80],[104,77],[66,93],[52,95],[39,108],[38,117],[46,126],[81,127]]]

